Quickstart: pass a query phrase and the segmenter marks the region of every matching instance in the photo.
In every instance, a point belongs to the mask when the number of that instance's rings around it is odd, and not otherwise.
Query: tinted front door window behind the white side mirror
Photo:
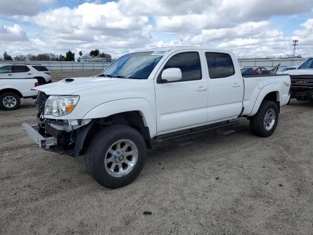
[[[201,80],[201,64],[198,52],[186,52],[174,55],[165,64],[163,70],[179,68],[181,70],[181,81]],[[159,74],[161,78],[161,73]]]

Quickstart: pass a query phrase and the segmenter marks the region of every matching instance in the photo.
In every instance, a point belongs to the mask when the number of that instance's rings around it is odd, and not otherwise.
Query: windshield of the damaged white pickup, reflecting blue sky
[[[116,60],[100,76],[147,79],[163,55],[153,51],[127,54]]]

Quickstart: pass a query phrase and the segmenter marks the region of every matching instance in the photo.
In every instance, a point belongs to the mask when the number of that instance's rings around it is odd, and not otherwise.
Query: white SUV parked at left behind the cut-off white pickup
[[[0,79],[36,78],[39,85],[51,83],[51,72],[40,64],[2,64]]]

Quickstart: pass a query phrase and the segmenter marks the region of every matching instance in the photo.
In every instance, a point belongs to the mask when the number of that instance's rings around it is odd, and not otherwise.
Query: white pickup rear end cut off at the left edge
[[[31,89],[38,85],[35,78],[1,78],[0,74],[0,108],[16,110],[21,105],[21,98],[36,98],[38,91]]]

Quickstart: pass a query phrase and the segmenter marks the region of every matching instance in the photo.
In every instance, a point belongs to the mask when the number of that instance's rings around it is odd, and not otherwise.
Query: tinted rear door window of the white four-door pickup
[[[229,54],[205,52],[210,78],[223,78],[235,74],[233,61]]]

